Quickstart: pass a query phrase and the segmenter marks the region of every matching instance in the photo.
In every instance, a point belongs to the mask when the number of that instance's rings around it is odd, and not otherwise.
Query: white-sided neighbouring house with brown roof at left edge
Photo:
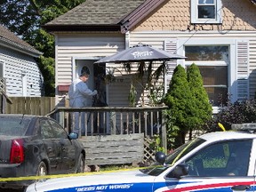
[[[1,91],[9,97],[44,95],[44,77],[35,60],[42,54],[0,25]]]

